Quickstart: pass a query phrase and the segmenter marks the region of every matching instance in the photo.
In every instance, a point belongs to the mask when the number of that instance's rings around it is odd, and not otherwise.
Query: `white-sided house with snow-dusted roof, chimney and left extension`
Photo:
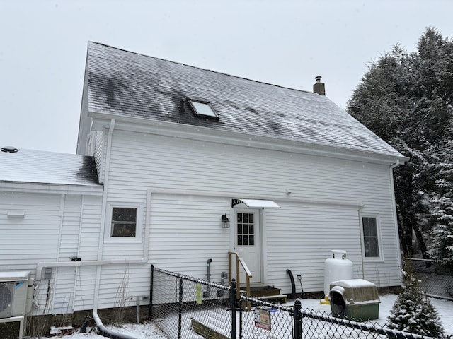
[[[314,90],[89,42],[78,154],[0,152],[0,270],[30,271],[33,314],[149,295],[151,264],[219,282],[230,251],[282,292],[323,290],[332,249],[400,285],[407,158]]]

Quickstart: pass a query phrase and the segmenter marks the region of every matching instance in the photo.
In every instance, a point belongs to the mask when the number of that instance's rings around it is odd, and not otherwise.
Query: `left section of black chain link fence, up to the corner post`
[[[151,266],[149,318],[170,339],[231,338],[230,290]]]

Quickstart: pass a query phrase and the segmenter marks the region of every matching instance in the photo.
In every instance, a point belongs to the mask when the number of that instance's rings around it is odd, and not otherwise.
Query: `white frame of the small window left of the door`
[[[113,208],[137,208],[135,237],[112,237]],[[143,241],[143,210],[144,204],[140,203],[107,203],[104,232],[105,242],[115,244],[140,244]]]

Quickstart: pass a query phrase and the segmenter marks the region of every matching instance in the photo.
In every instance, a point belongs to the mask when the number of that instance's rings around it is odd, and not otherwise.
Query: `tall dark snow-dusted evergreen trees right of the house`
[[[397,45],[369,66],[348,102],[352,116],[411,159],[394,170],[398,228],[406,256],[411,255],[412,234],[425,258],[425,240],[430,254],[450,253],[452,243],[442,237],[451,239],[452,234],[447,222],[453,215],[452,101],[453,42],[427,28],[417,52],[408,54]]]

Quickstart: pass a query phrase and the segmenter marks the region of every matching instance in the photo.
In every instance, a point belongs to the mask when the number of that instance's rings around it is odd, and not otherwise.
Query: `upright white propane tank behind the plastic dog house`
[[[352,279],[352,261],[346,258],[346,251],[333,249],[332,258],[324,262],[324,295],[328,296],[331,283]]]

